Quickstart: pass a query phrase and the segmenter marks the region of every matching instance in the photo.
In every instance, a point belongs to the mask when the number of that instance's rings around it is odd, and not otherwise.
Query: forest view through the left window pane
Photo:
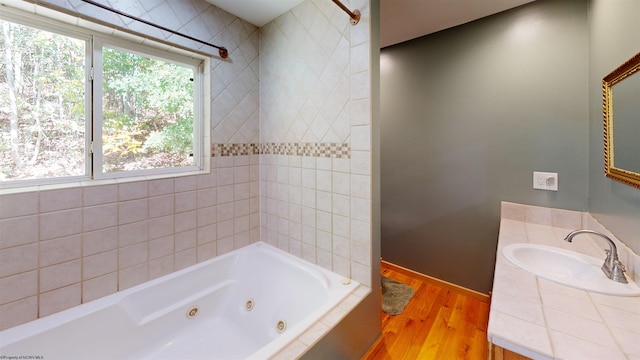
[[[86,41],[0,22],[0,180],[84,175]]]

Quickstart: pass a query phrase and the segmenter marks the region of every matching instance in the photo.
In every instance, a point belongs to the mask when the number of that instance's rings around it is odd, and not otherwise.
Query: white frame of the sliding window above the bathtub
[[[37,6],[38,8],[41,8]],[[160,43],[143,35],[134,35],[113,30],[86,19],[46,11],[48,16],[3,7],[0,19],[36,29],[73,37],[85,42],[85,174],[77,176],[39,179],[10,180],[0,182],[0,193],[6,191],[31,191],[33,187],[67,187],[97,185],[104,181],[136,181],[141,179],[186,176],[210,171],[211,135],[207,132],[211,123],[210,102],[211,74],[208,70],[211,57],[196,52]],[[77,23],[86,26],[77,25]],[[138,55],[189,66],[194,69],[194,164],[182,167],[144,170],[102,171],[102,45],[122,49]],[[98,156],[96,156],[98,155]]]

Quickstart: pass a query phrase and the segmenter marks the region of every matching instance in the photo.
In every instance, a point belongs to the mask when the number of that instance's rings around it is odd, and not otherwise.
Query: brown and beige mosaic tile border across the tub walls
[[[239,155],[296,155],[351,158],[351,147],[347,143],[264,143],[264,144],[213,144],[212,156]]]

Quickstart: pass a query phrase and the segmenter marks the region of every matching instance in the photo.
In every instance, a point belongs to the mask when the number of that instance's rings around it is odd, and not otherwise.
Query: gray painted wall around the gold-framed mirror
[[[602,78],[640,51],[640,1],[592,0],[589,6],[589,210],[640,253],[640,190],[604,176],[601,100]]]

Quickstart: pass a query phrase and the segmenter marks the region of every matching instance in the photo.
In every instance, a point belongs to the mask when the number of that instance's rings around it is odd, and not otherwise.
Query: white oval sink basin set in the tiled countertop
[[[511,244],[502,249],[514,265],[530,273],[562,285],[607,295],[640,296],[640,287],[627,277],[623,284],[607,278],[600,267],[602,259],[552,246]]]

